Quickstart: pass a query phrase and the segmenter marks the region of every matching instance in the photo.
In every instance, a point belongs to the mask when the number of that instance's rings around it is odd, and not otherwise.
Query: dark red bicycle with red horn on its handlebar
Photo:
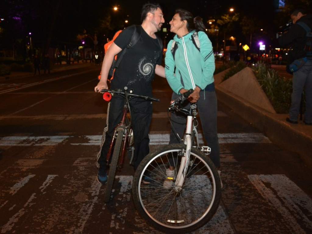
[[[103,98],[105,101],[110,101],[111,96],[115,94],[125,98],[122,118],[119,124],[115,127],[112,141],[110,143],[110,148],[106,156],[107,165],[110,166],[104,192],[104,202],[107,203],[110,201],[110,194],[114,184],[116,169],[117,167],[119,168],[122,167],[124,163],[124,157],[128,150],[132,152],[130,164],[132,163],[133,160],[134,136],[131,125],[131,109],[129,101],[135,97],[157,102],[159,102],[159,99],[133,94],[133,90],[130,89],[128,92],[127,87],[124,87],[124,92],[122,92],[121,89],[117,90],[103,89],[100,91],[100,93],[103,93]]]

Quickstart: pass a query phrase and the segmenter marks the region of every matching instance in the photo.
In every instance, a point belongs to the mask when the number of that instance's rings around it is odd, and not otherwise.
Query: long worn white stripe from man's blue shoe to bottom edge
[[[83,229],[85,227],[85,223],[88,221],[90,214],[93,210],[95,202],[98,200],[98,196],[100,193],[101,184],[95,179],[91,185],[91,196],[93,199],[90,199],[85,202],[85,204],[80,208],[78,217],[80,221],[73,227],[71,227],[68,233],[70,234],[78,234],[83,233]]]

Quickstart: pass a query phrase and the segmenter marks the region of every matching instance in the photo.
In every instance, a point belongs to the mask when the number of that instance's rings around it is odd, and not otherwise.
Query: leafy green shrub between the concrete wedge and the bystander
[[[292,79],[280,77],[263,63],[254,67],[254,73],[277,113],[287,113],[291,104]]]

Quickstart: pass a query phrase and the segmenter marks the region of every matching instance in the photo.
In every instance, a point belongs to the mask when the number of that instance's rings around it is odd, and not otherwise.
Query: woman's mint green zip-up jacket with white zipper
[[[205,89],[208,84],[214,82],[213,72],[215,70],[215,58],[212,44],[205,32],[199,31],[200,51],[192,41],[195,31],[178,38],[173,37],[178,48],[175,51],[174,60],[171,52],[173,40],[170,40],[165,57],[165,73],[167,81],[173,92],[180,94],[182,88]],[[174,72],[174,67],[176,70]]]

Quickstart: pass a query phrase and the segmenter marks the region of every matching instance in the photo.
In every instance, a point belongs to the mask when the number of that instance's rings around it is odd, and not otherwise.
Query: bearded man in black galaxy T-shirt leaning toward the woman
[[[155,32],[160,31],[165,22],[163,12],[158,4],[147,3],[141,12],[141,35],[132,47],[124,54],[118,69],[111,81],[111,89],[133,88],[134,94],[152,96],[151,82],[155,77],[165,77],[164,67],[161,65],[162,49],[159,45]],[[95,92],[107,89],[107,76],[113,59],[130,42],[134,33],[132,27],[124,29],[112,43],[105,54],[102,64],[100,82],[95,86]],[[152,119],[152,103],[139,98],[132,99],[131,114],[134,133],[134,170],[139,166],[142,159],[149,153],[149,126]],[[106,155],[109,150],[112,134],[115,126],[122,117],[124,99],[117,95],[108,105],[106,127],[102,137],[100,151],[97,157],[98,181],[102,184],[107,182]]]

